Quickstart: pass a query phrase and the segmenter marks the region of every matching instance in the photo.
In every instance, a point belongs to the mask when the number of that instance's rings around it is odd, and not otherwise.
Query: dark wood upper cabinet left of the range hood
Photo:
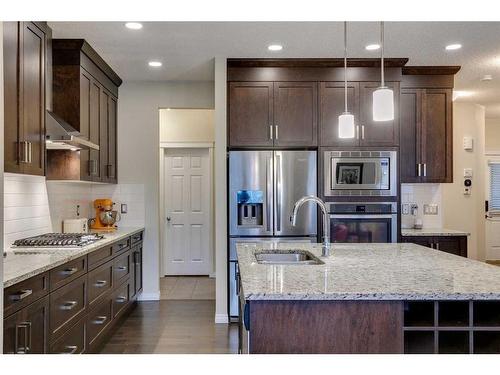
[[[52,32],[44,22],[4,23],[5,171],[45,174],[47,50]],[[47,78],[49,77],[49,78]]]

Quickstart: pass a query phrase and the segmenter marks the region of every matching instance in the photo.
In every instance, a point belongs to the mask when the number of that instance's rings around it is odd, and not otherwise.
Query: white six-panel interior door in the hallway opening
[[[209,149],[165,151],[167,275],[208,275],[211,168]]]

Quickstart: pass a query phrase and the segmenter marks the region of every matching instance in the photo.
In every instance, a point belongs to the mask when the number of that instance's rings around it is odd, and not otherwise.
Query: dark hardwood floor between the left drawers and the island
[[[237,325],[215,324],[214,315],[210,300],[139,302],[101,353],[237,353]]]

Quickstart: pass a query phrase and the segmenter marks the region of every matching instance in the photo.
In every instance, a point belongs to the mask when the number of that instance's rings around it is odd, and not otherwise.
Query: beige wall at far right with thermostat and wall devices
[[[463,137],[474,139],[473,151],[465,151]],[[442,184],[443,225],[471,233],[469,257],[485,259],[485,112],[471,103],[453,105],[453,183]],[[473,169],[472,194],[463,194],[463,170]]]

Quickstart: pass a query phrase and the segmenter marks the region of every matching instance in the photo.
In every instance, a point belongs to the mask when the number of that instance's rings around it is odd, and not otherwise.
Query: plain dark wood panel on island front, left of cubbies
[[[400,301],[250,301],[250,353],[403,352]]]

